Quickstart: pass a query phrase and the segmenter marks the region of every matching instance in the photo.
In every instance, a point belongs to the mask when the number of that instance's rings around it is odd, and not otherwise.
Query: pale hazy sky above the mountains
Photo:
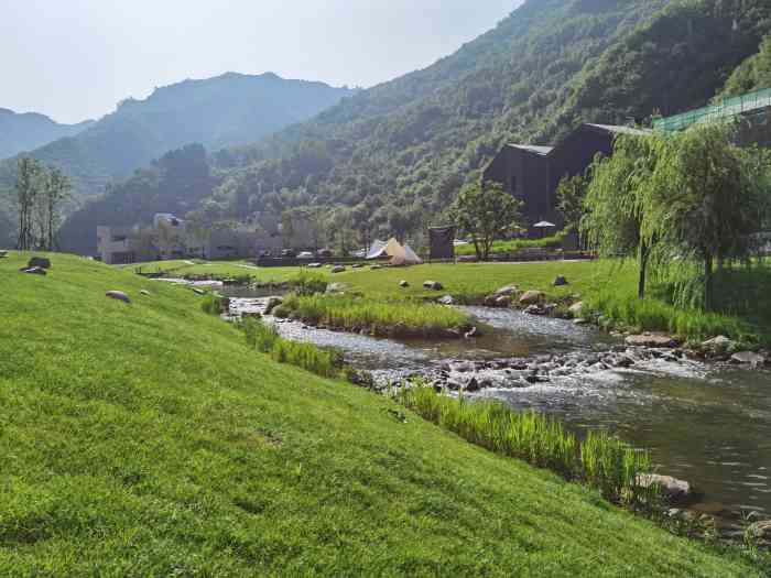
[[[495,26],[518,0],[0,0],[0,107],[98,118],[234,70],[371,86]]]

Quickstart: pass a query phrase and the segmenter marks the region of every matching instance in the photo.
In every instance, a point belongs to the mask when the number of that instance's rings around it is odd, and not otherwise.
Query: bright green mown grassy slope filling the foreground
[[[3,576],[753,575],[269,361],[184,288],[21,264],[0,260]]]

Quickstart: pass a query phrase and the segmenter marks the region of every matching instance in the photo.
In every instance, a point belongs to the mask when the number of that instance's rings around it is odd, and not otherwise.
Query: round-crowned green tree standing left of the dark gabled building
[[[466,186],[452,208],[455,222],[471,237],[480,261],[487,261],[496,240],[511,235],[522,223],[522,201],[498,183]]]

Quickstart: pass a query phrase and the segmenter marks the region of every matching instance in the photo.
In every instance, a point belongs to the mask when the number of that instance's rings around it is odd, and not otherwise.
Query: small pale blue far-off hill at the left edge
[[[0,159],[37,149],[57,139],[73,137],[90,127],[87,120],[77,124],[59,124],[36,112],[18,113],[0,108]]]

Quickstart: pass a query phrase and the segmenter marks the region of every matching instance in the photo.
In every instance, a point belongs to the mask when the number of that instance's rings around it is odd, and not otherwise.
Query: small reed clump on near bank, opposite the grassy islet
[[[279,363],[296,366],[323,378],[336,378],[343,371],[339,351],[283,339],[275,327],[265,325],[261,319],[246,319],[241,327],[249,346],[268,353]]]

